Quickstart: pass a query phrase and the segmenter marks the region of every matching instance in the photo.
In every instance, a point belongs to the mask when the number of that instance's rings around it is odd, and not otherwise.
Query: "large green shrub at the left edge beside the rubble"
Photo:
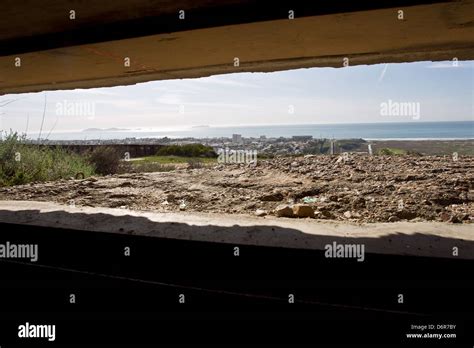
[[[85,158],[60,147],[28,144],[25,136],[11,132],[0,141],[0,186],[33,181],[53,181],[94,174]]]

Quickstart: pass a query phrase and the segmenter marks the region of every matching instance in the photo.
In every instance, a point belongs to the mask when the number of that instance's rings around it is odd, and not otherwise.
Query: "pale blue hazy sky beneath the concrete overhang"
[[[474,120],[474,61],[377,64],[236,73],[131,86],[10,94],[3,130],[172,130],[198,125],[276,125]],[[419,117],[381,104],[417,103]]]

